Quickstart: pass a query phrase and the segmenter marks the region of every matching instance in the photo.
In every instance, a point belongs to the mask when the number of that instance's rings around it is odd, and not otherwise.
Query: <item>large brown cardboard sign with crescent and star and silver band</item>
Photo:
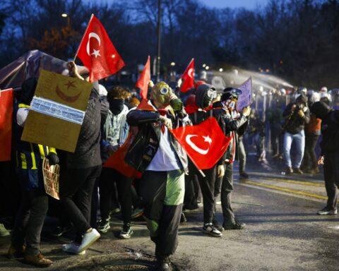
[[[93,85],[42,70],[21,140],[74,152]]]

